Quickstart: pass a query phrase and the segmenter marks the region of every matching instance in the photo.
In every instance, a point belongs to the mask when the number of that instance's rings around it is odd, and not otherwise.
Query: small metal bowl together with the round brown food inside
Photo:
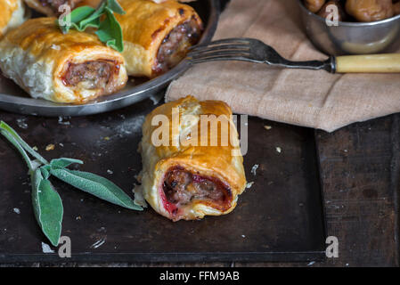
[[[298,0],[298,4],[306,35],[323,53],[396,53],[400,47],[399,0]]]

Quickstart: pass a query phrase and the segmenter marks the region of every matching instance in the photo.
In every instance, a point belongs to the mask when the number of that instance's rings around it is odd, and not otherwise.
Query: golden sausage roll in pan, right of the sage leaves
[[[120,0],[125,15],[116,15],[130,76],[156,77],[176,66],[200,39],[202,23],[187,4],[168,0]]]

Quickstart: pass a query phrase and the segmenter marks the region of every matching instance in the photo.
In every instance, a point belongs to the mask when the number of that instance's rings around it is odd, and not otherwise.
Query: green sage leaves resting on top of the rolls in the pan
[[[103,0],[97,9],[90,6],[78,7],[56,20],[56,23],[64,34],[67,34],[70,28],[75,28],[81,32],[89,27],[97,28],[94,33],[100,41],[122,53],[124,51],[122,28],[115,18],[114,12],[121,15],[125,14],[117,0]]]

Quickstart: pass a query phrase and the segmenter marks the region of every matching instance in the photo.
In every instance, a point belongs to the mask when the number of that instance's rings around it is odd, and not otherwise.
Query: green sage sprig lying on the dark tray
[[[110,203],[133,210],[143,210],[110,180],[89,172],[67,168],[72,164],[83,164],[82,160],[61,158],[48,162],[4,121],[0,121],[0,134],[12,143],[27,163],[32,184],[32,205],[35,217],[42,232],[53,246],[57,246],[60,240],[63,208],[61,197],[49,180],[52,175],[64,183]],[[30,159],[29,154],[35,159]]]

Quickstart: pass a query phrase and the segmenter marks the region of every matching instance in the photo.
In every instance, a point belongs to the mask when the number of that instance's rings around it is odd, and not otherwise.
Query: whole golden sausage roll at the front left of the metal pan
[[[55,18],[27,20],[0,42],[0,68],[34,98],[82,103],[127,84],[125,61],[97,36],[70,30]]]

